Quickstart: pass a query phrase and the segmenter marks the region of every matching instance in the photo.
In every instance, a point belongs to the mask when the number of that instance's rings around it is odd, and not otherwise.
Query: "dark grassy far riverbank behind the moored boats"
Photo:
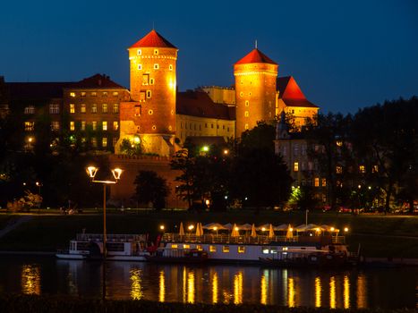
[[[42,210],[41,210],[42,212]],[[65,249],[76,233],[101,233],[103,216],[99,211],[72,216],[63,214],[34,214],[25,223],[18,224],[0,238],[0,250],[53,252]],[[0,215],[0,231],[24,215]],[[309,222],[329,224],[339,229],[348,227],[346,242],[350,250],[366,258],[418,258],[418,216],[353,216],[337,213],[310,213]],[[249,210],[227,212],[187,211],[129,211],[107,215],[108,233],[157,234],[164,224],[167,232],[176,232],[179,224],[254,223],[304,224],[304,212],[276,212]]]

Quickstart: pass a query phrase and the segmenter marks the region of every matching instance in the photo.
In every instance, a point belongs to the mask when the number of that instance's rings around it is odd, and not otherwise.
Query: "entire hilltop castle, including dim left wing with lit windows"
[[[128,50],[130,89],[100,74],[78,82],[4,83],[1,78],[0,114],[10,107],[22,115],[28,149],[37,140],[39,115],[46,114],[57,139],[69,133],[74,144],[88,150],[117,153],[128,139],[141,141],[145,152],[170,156],[188,137],[239,138],[282,111],[294,114],[296,126],[318,113],[294,78],[277,78],[277,63],[257,48],[235,63],[235,87],[186,92],[176,87],[178,49],[157,31]]]

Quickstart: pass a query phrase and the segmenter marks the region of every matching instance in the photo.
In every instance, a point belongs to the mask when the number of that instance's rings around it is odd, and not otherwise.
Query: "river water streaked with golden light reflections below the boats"
[[[0,275],[0,291],[100,297],[101,266],[75,260],[0,259],[0,272],[7,273]],[[416,308],[417,277],[418,268],[319,271],[108,262],[107,297],[291,308]]]

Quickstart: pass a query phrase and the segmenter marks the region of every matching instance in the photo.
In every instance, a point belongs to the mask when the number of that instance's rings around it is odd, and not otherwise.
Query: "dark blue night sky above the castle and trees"
[[[0,75],[81,80],[107,73],[129,88],[127,47],[155,29],[180,49],[179,89],[229,86],[254,47],[293,75],[322,112],[418,95],[418,4],[352,1],[5,1]]]

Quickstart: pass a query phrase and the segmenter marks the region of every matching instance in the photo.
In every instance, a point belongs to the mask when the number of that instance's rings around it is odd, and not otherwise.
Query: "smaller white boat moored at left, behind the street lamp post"
[[[107,260],[145,261],[149,255],[146,234],[107,234]],[[68,250],[58,250],[56,258],[102,260],[103,234],[78,233]]]

